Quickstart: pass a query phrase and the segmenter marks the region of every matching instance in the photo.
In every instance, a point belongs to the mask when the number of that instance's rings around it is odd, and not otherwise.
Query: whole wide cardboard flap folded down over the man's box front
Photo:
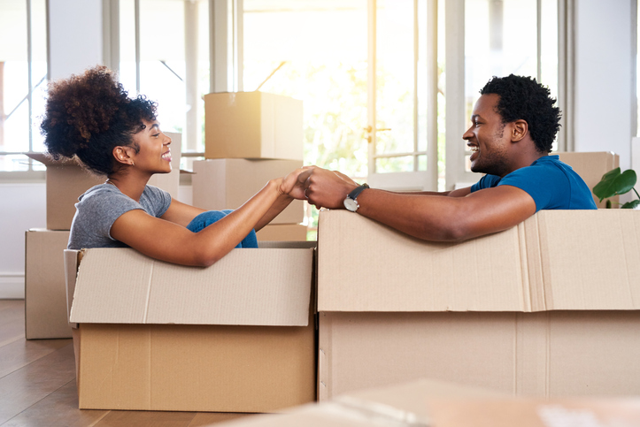
[[[460,243],[320,212],[319,311],[640,309],[637,210],[545,210]]]

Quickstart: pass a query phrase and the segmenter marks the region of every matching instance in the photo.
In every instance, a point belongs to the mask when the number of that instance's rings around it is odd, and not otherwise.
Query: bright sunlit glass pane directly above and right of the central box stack
[[[366,177],[366,0],[245,0],[243,87],[303,100],[305,164]]]

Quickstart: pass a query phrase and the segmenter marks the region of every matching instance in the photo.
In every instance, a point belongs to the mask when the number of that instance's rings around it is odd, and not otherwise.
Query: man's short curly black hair
[[[551,152],[551,144],[560,128],[562,113],[554,104],[549,88],[539,84],[532,77],[510,74],[506,77],[494,76],[480,90],[481,95],[500,96],[497,113],[503,123],[525,120],[531,139],[541,153]]]

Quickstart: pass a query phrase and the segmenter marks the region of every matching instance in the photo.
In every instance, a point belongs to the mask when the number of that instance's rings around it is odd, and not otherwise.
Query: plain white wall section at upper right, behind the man
[[[614,151],[631,164],[635,136],[632,2],[575,2],[575,151]]]

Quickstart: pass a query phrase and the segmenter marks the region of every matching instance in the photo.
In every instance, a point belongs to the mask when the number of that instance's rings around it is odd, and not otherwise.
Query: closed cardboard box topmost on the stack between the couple
[[[204,95],[206,158],[303,159],[302,101],[265,92]]]

